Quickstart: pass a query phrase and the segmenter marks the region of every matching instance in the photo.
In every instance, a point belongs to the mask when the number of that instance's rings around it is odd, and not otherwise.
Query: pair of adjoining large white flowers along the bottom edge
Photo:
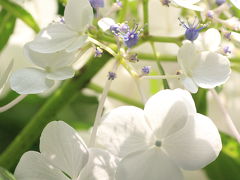
[[[216,126],[196,112],[189,92],[163,90],[144,110],[122,106],[102,119],[97,142],[84,141],[62,121],[42,132],[40,152],[25,153],[17,180],[181,180],[180,169],[214,161],[222,148]]]

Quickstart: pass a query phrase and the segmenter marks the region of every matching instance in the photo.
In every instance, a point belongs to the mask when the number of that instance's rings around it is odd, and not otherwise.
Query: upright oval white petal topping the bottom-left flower
[[[88,150],[78,133],[63,121],[49,123],[40,139],[42,155],[72,179],[88,161]]]

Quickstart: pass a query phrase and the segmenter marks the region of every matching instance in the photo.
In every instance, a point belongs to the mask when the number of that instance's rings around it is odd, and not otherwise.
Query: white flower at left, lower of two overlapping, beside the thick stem
[[[74,76],[72,63],[75,53],[59,51],[56,53],[39,53],[24,46],[26,57],[38,67],[17,70],[10,77],[11,88],[19,94],[37,94],[50,89],[56,80],[65,80]]]

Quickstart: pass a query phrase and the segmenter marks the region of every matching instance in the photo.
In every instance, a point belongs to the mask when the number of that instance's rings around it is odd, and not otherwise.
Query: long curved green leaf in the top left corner
[[[20,18],[29,27],[31,27],[35,32],[39,32],[40,28],[32,15],[27,12],[24,8],[16,3],[10,2],[9,0],[0,0],[0,5],[11,13],[13,16]]]

